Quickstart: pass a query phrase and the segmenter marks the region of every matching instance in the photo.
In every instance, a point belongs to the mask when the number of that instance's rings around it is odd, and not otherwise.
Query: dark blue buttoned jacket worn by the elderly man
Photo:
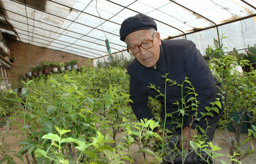
[[[159,93],[148,87],[153,84],[164,94],[165,88],[165,76],[168,73],[167,78],[176,81],[181,84],[185,77],[188,77],[191,85],[195,87],[196,93],[198,93],[197,100],[200,102],[198,106],[198,113],[206,112],[205,106],[210,106],[210,102],[215,102],[217,98],[216,80],[212,76],[210,69],[199,50],[196,49],[196,45],[189,40],[178,39],[178,40],[161,40],[162,45],[160,46],[160,56],[157,62],[157,68],[146,68],[141,65],[136,59],[134,59],[128,65],[128,73],[130,75],[130,98],[133,103],[130,105],[133,111],[140,121],[140,119],[154,118],[150,109],[147,106],[148,95],[152,98],[156,98]],[[181,87],[178,85],[169,86],[167,85],[166,91],[166,105],[167,113],[177,111],[178,106],[175,105],[177,101],[181,99]],[[189,86],[185,84],[183,86],[183,96]],[[190,86],[189,86],[190,87]],[[164,107],[164,98],[162,96],[157,97]],[[194,112],[190,111],[190,116]],[[222,112],[221,112],[222,113]],[[221,113],[214,113],[214,117],[210,117],[208,120],[209,125],[219,121]],[[161,118],[164,119],[164,109],[161,110]],[[155,119],[155,118],[154,118]],[[205,119],[200,122],[194,122],[195,125],[201,127],[206,125]]]

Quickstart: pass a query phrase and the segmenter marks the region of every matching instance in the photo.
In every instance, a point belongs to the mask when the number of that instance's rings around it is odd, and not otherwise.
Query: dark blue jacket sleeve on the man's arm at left
[[[136,59],[135,59],[136,60]],[[152,119],[156,120],[147,106],[148,95],[146,92],[141,92],[140,90],[140,80],[142,78],[140,75],[139,69],[136,68],[135,62],[133,61],[128,65],[127,71],[130,75],[130,99],[133,101],[130,103],[133,108],[133,112],[136,115],[138,121],[141,119],[147,118],[148,120]]]

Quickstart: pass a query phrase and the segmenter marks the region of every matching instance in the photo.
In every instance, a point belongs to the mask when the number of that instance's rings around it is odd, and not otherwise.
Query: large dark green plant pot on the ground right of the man
[[[232,111],[232,112],[230,112],[230,118],[231,118],[232,120],[234,120],[234,121],[236,122],[236,124],[238,124],[238,121],[239,121],[239,119],[240,119],[240,115],[241,115],[241,114],[242,114],[241,111],[240,111],[240,112]],[[247,115],[247,114],[245,114],[245,116],[244,116],[244,121],[249,121],[249,118],[248,118],[248,115]],[[228,129],[229,131],[231,131],[231,132],[234,132],[234,131],[235,131],[235,129],[232,127],[231,123],[228,123],[228,124],[227,124],[227,129]],[[247,132],[247,131],[248,131],[248,123],[243,123],[243,124],[241,125],[240,132],[241,132],[241,133],[245,133],[245,132]]]

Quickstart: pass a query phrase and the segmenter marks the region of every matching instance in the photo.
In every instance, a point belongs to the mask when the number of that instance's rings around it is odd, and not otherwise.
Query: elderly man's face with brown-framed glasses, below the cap
[[[134,57],[145,67],[157,67],[157,61],[160,55],[160,45],[161,39],[160,34],[157,32],[154,38],[154,45],[150,49],[143,49],[140,46],[140,52],[135,54]],[[128,47],[132,47],[134,45],[140,45],[142,42],[146,40],[153,39],[153,31],[151,30],[138,30],[132,32],[131,34],[127,35],[125,38],[125,42],[127,43]]]

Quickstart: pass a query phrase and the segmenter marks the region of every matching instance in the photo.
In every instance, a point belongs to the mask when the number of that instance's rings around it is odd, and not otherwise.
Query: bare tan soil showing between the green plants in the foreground
[[[18,118],[17,118],[18,119]],[[22,120],[17,120],[17,122],[19,123],[22,123]],[[9,129],[9,132],[6,136],[6,138],[4,139],[4,141],[9,144],[9,149],[11,151],[19,151],[21,148],[19,148],[19,144],[17,144],[18,142],[20,142],[21,140],[24,139],[24,137],[21,135],[21,134],[18,134],[18,133],[21,133],[20,131],[17,130],[17,127],[16,126],[12,126],[10,129]],[[12,134],[18,134],[17,136],[13,136]],[[124,136],[125,134],[124,133],[118,133],[117,135],[117,139],[116,140],[121,140],[122,139],[122,136]],[[231,137],[234,137],[234,132],[229,132],[228,131],[228,135],[229,135],[229,138],[231,140]],[[241,133],[241,140],[244,142],[244,140],[246,138],[248,138],[248,133]],[[224,155],[226,155],[226,157],[219,157],[219,158],[216,158],[215,159],[215,163],[216,164],[221,164],[222,162],[220,160],[224,160],[226,162],[229,161],[229,158],[227,157],[228,154],[230,154],[230,146],[228,144],[228,141],[227,141],[227,137],[225,136],[225,132],[224,131],[221,131],[220,129],[216,129],[216,132],[215,132],[215,137],[214,137],[214,140],[212,140],[212,144],[214,145],[218,145],[222,150],[221,151],[218,151],[218,153],[222,153]],[[253,147],[256,149],[256,138],[252,137],[249,139],[249,142],[245,143],[243,146],[242,146],[242,149],[243,150],[247,150],[248,148],[250,149],[251,148],[251,145],[253,145]],[[137,144],[133,144],[131,146],[131,151],[132,151],[132,155],[135,156],[138,152],[138,145]],[[0,150],[1,151],[1,150]],[[10,153],[10,155],[13,154],[13,153]],[[26,158],[25,158],[25,155],[23,156],[24,158],[24,161],[21,161],[20,159],[18,159],[17,157],[14,157],[14,161],[16,163],[20,163],[20,164],[23,164],[23,163],[28,163],[26,161]],[[0,155],[0,160],[3,159],[3,156]],[[30,156],[29,159],[31,160],[32,157]],[[146,159],[148,160],[147,163],[150,163],[150,162],[153,162],[153,159],[154,157],[151,156],[151,155],[148,155],[146,154]],[[256,153],[254,153],[253,155],[248,155],[248,156],[245,156],[242,160],[241,160],[242,163],[245,163],[245,164],[254,164],[256,163]],[[2,162],[3,164],[6,164],[7,162],[4,161]],[[31,162],[32,163],[32,162]],[[130,163],[128,161],[126,161],[126,163]],[[145,161],[144,161],[144,157],[141,154],[138,154],[135,159],[134,159],[134,163],[137,163],[137,164],[144,164]],[[153,162],[154,163],[154,162]]]

